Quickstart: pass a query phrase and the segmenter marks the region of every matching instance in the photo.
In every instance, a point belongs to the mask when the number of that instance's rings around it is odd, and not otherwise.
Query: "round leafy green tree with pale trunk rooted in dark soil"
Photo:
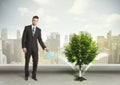
[[[98,54],[98,47],[89,33],[81,32],[73,34],[70,42],[65,46],[65,56],[68,62],[75,63],[79,67],[79,75],[76,80],[86,80],[82,77],[82,66],[91,63]]]

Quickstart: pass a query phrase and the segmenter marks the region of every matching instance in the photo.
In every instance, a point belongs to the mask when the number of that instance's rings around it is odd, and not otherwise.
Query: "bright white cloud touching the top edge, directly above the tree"
[[[73,14],[84,13],[88,7],[89,0],[75,0],[69,12]]]

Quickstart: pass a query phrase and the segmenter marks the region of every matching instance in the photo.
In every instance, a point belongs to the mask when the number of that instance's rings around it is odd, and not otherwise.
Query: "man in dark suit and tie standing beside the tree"
[[[32,55],[33,59],[33,71],[32,71],[32,79],[37,81],[36,78],[36,71],[37,71],[37,64],[38,64],[38,44],[37,40],[42,46],[43,50],[48,52],[45,44],[41,38],[41,29],[38,28],[36,25],[38,23],[39,17],[33,16],[32,24],[25,26],[22,35],[22,49],[25,53],[25,80],[28,80],[29,76],[29,61],[30,56]]]

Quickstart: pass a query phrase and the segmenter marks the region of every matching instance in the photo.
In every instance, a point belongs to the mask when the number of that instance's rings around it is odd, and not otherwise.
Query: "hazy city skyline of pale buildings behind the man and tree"
[[[82,31],[83,32],[83,31]],[[86,32],[86,31],[85,31]],[[16,31],[16,39],[9,39],[7,29],[3,29],[0,38],[0,63],[1,64],[21,64],[24,63],[24,54],[21,48],[20,31]],[[91,34],[92,36],[92,34]],[[112,35],[112,31],[106,33],[106,36],[97,36],[97,45],[100,56],[103,58],[97,60],[96,64],[119,64],[120,63],[120,35]],[[66,35],[64,38],[64,45],[69,43],[72,34]],[[54,41],[54,42],[53,42]],[[60,34],[52,32],[45,41],[46,46],[52,52],[54,58],[47,60],[45,59],[44,51],[39,46],[39,63],[41,64],[66,64],[64,47],[60,47]],[[106,53],[108,55],[101,55]],[[30,61],[32,63],[32,60]]]

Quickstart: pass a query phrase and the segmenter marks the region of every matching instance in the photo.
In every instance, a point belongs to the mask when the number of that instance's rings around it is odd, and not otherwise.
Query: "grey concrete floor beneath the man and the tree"
[[[0,72],[0,85],[120,85],[120,72],[87,72],[87,80],[75,81],[74,72],[37,72],[38,81],[24,80],[24,72]]]

